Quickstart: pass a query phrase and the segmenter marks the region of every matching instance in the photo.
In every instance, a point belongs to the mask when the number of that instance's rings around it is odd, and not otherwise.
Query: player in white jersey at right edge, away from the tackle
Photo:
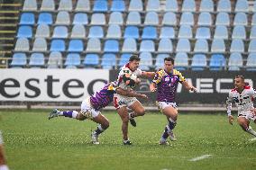
[[[231,124],[233,124],[233,116],[231,114],[232,103],[238,108],[237,122],[242,130],[256,137],[256,132],[251,129],[250,121],[256,123],[255,109],[253,100],[256,98],[256,92],[250,85],[245,85],[243,76],[235,76],[234,87],[227,98],[227,114]]]

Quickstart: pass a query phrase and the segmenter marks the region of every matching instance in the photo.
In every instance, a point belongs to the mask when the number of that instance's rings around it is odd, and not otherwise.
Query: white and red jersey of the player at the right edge
[[[248,112],[253,109],[253,100],[256,98],[256,91],[250,85],[244,85],[240,94],[236,88],[233,88],[227,98],[227,113],[231,114],[232,103],[238,108],[238,114]]]

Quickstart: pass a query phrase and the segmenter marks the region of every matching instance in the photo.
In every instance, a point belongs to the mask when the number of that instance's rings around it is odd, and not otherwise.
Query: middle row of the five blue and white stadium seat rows
[[[251,32],[248,34],[247,31]],[[136,26],[127,26],[122,28],[117,24],[111,24],[107,28],[102,26],[90,26],[85,27],[84,25],[74,25],[69,29],[67,26],[55,26],[50,27],[46,24],[40,24],[37,26],[35,33],[32,31],[31,26],[20,26],[17,31],[17,38],[54,38],[54,39],[86,39],[86,38],[99,38],[99,39],[255,39],[256,38],[256,25],[251,29],[246,29],[242,25],[233,27],[232,31],[224,25],[216,26],[212,29],[207,27],[197,27],[193,29],[189,25],[182,25],[177,30],[173,27],[163,26],[158,31],[157,27],[146,26],[141,29]],[[52,32],[52,34],[50,33]],[[69,34],[69,32],[71,32]],[[229,35],[231,32],[231,35]]]

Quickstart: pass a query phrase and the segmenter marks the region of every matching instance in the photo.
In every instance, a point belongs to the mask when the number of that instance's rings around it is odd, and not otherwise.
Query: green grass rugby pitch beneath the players
[[[222,114],[189,114],[178,117],[178,141],[160,146],[166,125],[163,115],[148,113],[130,126],[133,146],[122,145],[121,120],[105,112],[110,127],[100,137],[100,145],[90,143],[92,121],[59,117],[48,120],[49,111],[0,110],[0,130],[12,170],[93,169],[93,170],[177,170],[256,169],[256,140]],[[256,130],[255,124],[251,127]],[[195,157],[208,158],[190,161]]]

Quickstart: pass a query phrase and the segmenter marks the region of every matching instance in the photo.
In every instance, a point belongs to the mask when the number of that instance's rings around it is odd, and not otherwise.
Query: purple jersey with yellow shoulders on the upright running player
[[[167,73],[164,69],[160,69],[156,72],[152,81],[157,85],[157,101],[175,103],[178,83],[182,83],[184,81],[186,81],[186,79],[178,70],[173,69],[172,73]]]

